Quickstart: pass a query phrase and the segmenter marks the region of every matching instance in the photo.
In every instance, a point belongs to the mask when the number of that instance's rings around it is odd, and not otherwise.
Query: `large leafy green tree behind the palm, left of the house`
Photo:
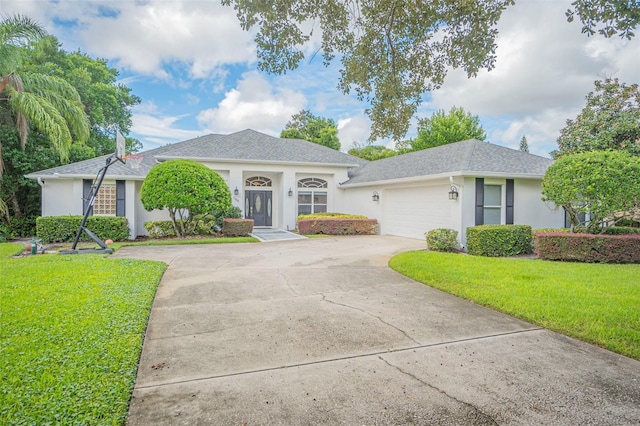
[[[131,107],[140,100],[131,89],[118,83],[118,72],[104,59],[93,59],[75,51],[65,52],[54,36],[45,36],[21,47],[21,73],[46,74],[71,84],[82,99],[90,126],[85,144],[73,143],[69,161],[82,161],[115,150],[115,132],[127,134],[131,127]],[[40,215],[40,187],[24,176],[36,170],[63,164],[49,139],[39,131],[29,132],[21,147],[13,122],[0,125],[5,170],[0,199],[6,203],[5,221],[14,236],[34,233],[35,217]],[[126,138],[127,151],[135,152],[141,144]]]

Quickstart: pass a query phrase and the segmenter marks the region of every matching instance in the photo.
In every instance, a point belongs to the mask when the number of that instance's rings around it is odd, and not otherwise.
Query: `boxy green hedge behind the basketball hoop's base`
[[[36,235],[43,243],[73,241],[82,216],[44,216],[36,219]],[[123,216],[89,216],[85,227],[102,240],[122,241],[129,238],[129,221]],[[86,232],[80,241],[91,241]]]

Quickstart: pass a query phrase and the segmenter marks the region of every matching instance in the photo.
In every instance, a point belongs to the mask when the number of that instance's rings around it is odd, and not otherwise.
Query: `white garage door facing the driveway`
[[[448,186],[386,190],[382,233],[422,239],[432,229],[451,228],[448,191]]]

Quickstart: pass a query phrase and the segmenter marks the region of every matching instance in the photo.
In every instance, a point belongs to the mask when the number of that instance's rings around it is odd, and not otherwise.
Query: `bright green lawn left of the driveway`
[[[0,244],[0,424],[124,424],[166,265],[23,250]]]

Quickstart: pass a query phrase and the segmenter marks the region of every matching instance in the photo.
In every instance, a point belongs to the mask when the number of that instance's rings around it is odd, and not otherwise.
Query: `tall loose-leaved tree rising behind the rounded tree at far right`
[[[587,105],[560,131],[554,158],[589,151],[626,151],[640,156],[640,90],[607,78],[595,82]]]

